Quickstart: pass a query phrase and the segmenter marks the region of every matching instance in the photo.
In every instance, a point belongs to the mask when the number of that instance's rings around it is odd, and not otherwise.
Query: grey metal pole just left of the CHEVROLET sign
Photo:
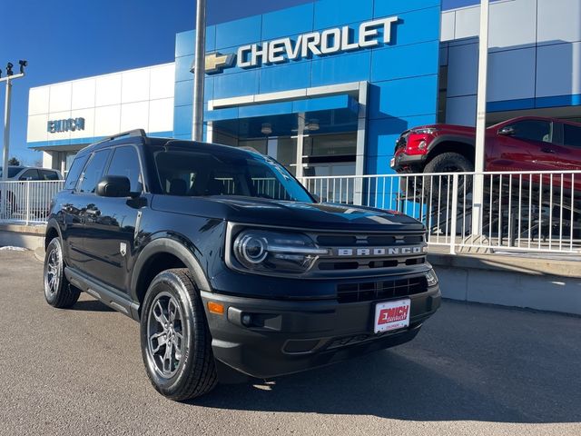
[[[202,141],[203,136],[203,79],[206,75],[206,0],[197,0],[196,49],[193,62],[193,126],[192,140]]]

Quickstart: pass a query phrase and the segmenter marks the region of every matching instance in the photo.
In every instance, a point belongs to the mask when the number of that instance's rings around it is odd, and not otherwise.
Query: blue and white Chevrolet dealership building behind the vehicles
[[[491,3],[489,124],[581,121],[579,17],[581,0]],[[439,0],[318,0],[210,25],[205,140],[251,146],[298,176],[390,173],[401,132],[475,124],[478,29],[478,5]],[[66,171],[107,135],[191,139],[193,50],[183,32],[172,63],[32,88],[28,147]]]

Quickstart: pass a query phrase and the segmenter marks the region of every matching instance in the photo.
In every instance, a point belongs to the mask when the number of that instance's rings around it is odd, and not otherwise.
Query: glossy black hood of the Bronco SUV
[[[351,231],[423,231],[424,225],[403,213],[337,203],[299,203],[239,196],[172,197],[155,195],[153,209],[235,223],[289,228]]]

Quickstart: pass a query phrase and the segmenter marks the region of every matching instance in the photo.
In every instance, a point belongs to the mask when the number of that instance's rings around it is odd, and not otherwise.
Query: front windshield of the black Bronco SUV
[[[241,195],[312,203],[310,194],[280,163],[261,154],[156,152],[162,190],[170,195]]]

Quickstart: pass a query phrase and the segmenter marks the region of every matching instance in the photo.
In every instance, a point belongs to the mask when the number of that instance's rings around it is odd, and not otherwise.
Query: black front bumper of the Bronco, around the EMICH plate
[[[202,292],[214,357],[263,379],[411,341],[438,309],[441,294],[436,285],[403,298],[411,300],[409,328],[375,334],[377,302],[276,301]],[[224,313],[208,312],[207,302],[222,303]]]

